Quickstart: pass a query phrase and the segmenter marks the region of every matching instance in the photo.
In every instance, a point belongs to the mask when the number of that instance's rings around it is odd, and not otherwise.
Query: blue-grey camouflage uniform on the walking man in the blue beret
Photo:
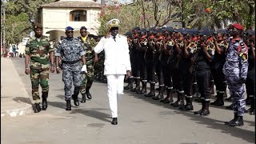
[[[71,98],[72,79],[74,81],[74,94],[79,94],[82,75],[80,57],[86,54],[82,43],[78,38],[64,38],[58,42],[55,50],[55,56],[62,57],[62,81],[66,101]]]

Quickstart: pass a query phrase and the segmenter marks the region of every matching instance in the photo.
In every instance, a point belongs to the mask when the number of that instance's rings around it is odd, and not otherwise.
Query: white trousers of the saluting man
[[[118,118],[118,100],[123,94],[123,81],[125,75],[123,74],[110,74],[106,75],[107,78],[107,96],[109,97],[110,110],[112,118]]]

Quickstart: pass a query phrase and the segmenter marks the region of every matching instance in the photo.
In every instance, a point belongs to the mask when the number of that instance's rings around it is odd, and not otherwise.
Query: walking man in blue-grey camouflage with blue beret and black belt
[[[82,46],[82,42],[78,38],[73,38],[74,29],[70,26],[66,27],[66,38],[58,43],[55,50],[56,57],[56,70],[57,74],[61,69],[58,67],[59,57],[62,57],[62,81],[64,82],[66,110],[71,110],[71,88],[72,82],[74,82],[74,105],[79,106],[78,94],[82,83],[82,72],[86,71],[86,57],[85,50]],[[82,64],[80,63],[80,57],[82,58]]]

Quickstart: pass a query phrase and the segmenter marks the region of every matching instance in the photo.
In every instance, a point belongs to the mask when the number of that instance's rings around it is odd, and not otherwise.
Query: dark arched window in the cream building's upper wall
[[[86,10],[73,10],[70,12],[70,21],[74,22],[86,22],[87,11]]]

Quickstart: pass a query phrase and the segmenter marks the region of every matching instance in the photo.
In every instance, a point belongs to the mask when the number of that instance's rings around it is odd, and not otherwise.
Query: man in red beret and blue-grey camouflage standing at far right
[[[241,38],[242,30],[243,26],[238,23],[230,26],[231,39],[226,50],[226,62],[223,66],[223,73],[226,75],[234,110],[234,119],[225,122],[229,126],[243,126],[242,117],[246,110],[244,85],[248,72],[248,48]]]

